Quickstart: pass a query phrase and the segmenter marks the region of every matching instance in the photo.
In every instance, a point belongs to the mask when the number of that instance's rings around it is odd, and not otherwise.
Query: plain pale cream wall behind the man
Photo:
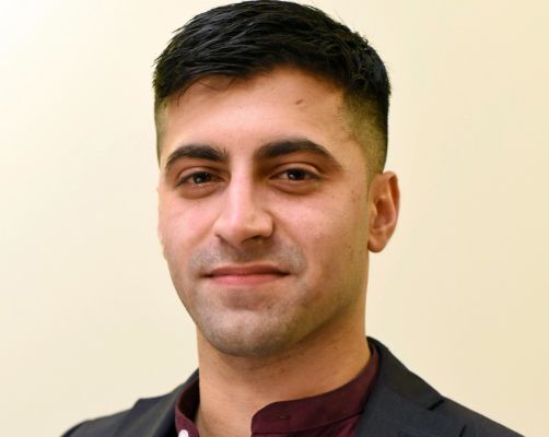
[[[0,2],[2,435],[56,436],[197,365],[155,232],[150,85],[217,1]],[[546,0],[318,0],[388,67],[400,224],[369,333],[444,394],[549,435]]]

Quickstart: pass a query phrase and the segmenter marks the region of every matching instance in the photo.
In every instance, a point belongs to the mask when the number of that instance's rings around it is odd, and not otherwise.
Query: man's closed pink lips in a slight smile
[[[223,265],[212,269],[205,277],[220,285],[259,285],[288,276],[290,273],[269,264]]]

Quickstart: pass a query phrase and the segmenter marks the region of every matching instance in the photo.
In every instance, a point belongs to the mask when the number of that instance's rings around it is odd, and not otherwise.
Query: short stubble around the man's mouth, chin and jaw
[[[293,246],[257,246],[245,252],[223,246],[203,248],[189,257],[186,274],[175,262],[177,257],[171,257],[170,250],[165,255],[174,286],[198,331],[225,355],[252,358],[281,355],[326,324],[341,307],[337,291],[311,290],[311,284],[303,280],[307,270],[305,256]],[[217,294],[219,290],[206,290],[203,280],[197,281],[200,272],[212,265],[244,262],[269,262],[291,272],[289,290],[280,290],[276,284],[272,295],[261,291],[259,303],[227,307]],[[315,305],[318,298],[327,300]]]

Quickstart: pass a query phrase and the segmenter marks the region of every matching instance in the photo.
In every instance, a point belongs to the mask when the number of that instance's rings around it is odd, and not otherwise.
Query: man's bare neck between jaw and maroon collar
[[[364,323],[344,324],[269,357],[227,356],[199,332],[200,436],[249,436],[252,417],[261,408],[331,391],[353,379],[367,363],[370,350]]]

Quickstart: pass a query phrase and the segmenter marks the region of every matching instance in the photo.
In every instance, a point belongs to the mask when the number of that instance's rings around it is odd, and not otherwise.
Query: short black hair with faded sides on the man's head
[[[255,0],[195,16],[156,59],[155,114],[168,97],[207,75],[246,78],[278,66],[297,67],[341,87],[354,129],[373,119],[382,133],[374,167],[383,169],[390,94],[385,66],[365,38],[309,5]]]

